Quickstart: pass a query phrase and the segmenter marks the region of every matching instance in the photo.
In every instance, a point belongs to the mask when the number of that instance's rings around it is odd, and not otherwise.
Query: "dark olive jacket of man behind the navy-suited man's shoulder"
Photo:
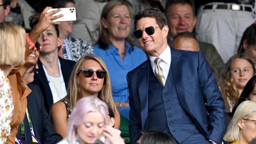
[[[170,38],[167,40],[168,45],[172,46],[172,41]],[[221,56],[217,52],[215,46],[207,42],[200,42],[198,41],[199,49],[204,55],[206,61],[210,66],[213,66],[218,71],[218,75],[222,77],[225,70],[225,64],[221,59]]]

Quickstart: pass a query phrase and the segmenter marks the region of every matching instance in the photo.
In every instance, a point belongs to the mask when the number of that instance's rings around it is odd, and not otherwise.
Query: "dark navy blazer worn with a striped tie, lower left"
[[[28,111],[30,113],[31,122],[33,125],[33,131],[35,133],[35,137],[42,144],[56,144],[63,138],[61,135],[55,132],[54,127],[52,126],[50,117],[46,112],[43,95],[37,87],[37,85],[30,83],[28,87],[32,90],[32,92],[27,96],[28,100]],[[20,127],[18,129],[18,133],[16,137],[19,140],[21,138]],[[23,141],[24,144],[29,144],[30,142]]]

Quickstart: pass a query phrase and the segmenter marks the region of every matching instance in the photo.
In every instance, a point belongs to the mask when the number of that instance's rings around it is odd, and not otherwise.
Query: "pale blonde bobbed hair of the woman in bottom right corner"
[[[238,123],[241,119],[249,119],[256,112],[256,102],[244,101],[236,109],[232,120],[223,139],[227,142],[238,141],[240,138],[240,128]]]

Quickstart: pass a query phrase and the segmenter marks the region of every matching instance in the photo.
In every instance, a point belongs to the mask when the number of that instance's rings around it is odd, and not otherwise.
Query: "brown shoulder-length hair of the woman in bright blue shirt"
[[[130,12],[130,17],[132,18],[132,4],[128,2],[127,0],[111,0],[109,1],[102,9],[101,15],[100,15],[100,20],[102,18],[107,19],[109,12],[115,7],[115,6],[127,6],[128,10]],[[129,42],[129,44],[133,45],[130,36],[126,37],[126,41]],[[100,45],[100,48],[102,49],[108,49],[108,45],[111,44],[109,40],[109,31],[108,29],[104,28],[103,24],[100,22],[99,26],[99,36],[98,36],[98,41],[96,44]]]

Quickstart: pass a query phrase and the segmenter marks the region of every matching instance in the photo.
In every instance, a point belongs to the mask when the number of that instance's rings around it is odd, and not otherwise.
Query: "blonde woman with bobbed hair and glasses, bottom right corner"
[[[256,102],[242,102],[228,125],[223,140],[231,144],[249,144],[256,137]]]

